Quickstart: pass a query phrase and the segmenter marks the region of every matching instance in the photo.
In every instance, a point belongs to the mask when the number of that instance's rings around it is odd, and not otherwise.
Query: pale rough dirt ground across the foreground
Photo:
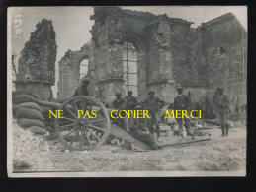
[[[19,171],[238,171],[245,169],[246,131],[229,129],[229,137],[220,137],[220,129],[206,130],[209,141],[163,148],[158,151],[134,152],[118,146],[104,145],[97,151],[69,152],[57,141],[50,142],[47,152],[31,151],[29,158],[18,159],[27,166]],[[209,136],[210,134],[210,136]],[[189,137],[186,140],[190,140]],[[178,141],[163,137],[162,143]],[[17,162],[17,160],[16,160]]]

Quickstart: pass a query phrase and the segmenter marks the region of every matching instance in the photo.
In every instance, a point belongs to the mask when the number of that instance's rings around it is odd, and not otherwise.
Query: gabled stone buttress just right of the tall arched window
[[[170,24],[164,16],[146,29],[149,39],[147,89],[153,90],[156,96],[165,101],[173,97],[174,92],[170,30]]]

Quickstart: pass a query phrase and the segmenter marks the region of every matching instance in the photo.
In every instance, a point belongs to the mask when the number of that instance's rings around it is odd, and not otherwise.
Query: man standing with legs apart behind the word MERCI
[[[187,110],[189,105],[190,105],[190,98],[188,96],[184,96],[182,94],[183,88],[181,86],[178,86],[176,90],[178,92],[178,96],[176,96],[174,98],[174,103],[173,103],[174,110]],[[184,139],[184,136],[183,136],[183,120],[186,124],[188,132],[191,135],[191,138],[193,140],[195,140],[193,131],[191,129],[190,118],[187,118],[186,116],[185,116],[185,118],[176,118],[176,121],[179,124],[179,132],[180,132],[181,140]]]

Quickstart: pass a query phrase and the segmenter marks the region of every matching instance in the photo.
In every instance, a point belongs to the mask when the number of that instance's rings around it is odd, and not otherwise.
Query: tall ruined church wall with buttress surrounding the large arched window
[[[95,20],[91,33],[98,45],[95,77],[101,84],[99,88],[105,91],[101,93],[106,93],[104,99],[113,99],[119,89],[123,95],[127,94],[121,78],[122,45],[126,40],[138,51],[140,99],[153,90],[167,103],[172,102],[177,95],[177,84],[188,89],[194,102],[205,94],[203,39],[200,31],[190,28],[191,22],[119,8],[96,8],[91,19]],[[113,86],[115,80],[118,82]],[[107,96],[109,89],[113,96]]]

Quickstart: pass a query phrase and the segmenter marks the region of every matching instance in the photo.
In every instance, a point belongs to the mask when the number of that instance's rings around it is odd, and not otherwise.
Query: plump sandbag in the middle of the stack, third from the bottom
[[[41,121],[44,120],[42,114],[38,110],[31,109],[31,108],[22,108],[22,107],[18,108],[15,114],[15,117],[18,119],[27,118],[27,119],[37,119]]]

